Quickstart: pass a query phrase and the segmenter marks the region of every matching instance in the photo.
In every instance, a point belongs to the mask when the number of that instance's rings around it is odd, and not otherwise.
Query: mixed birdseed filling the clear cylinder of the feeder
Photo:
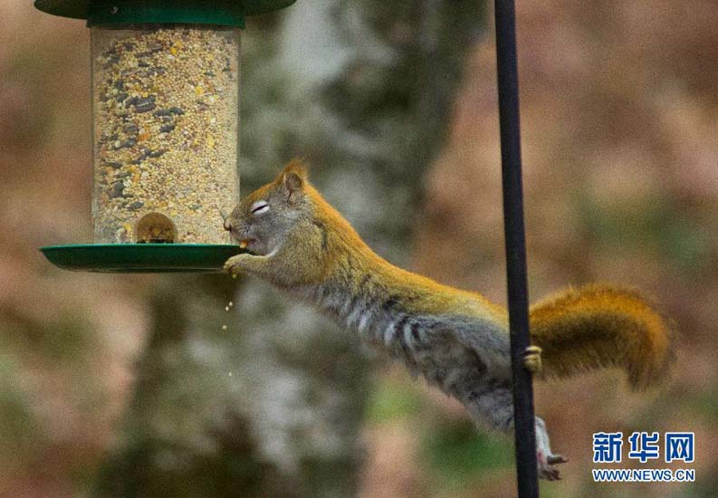
[[[92,54],[95,242],[228,244],[238,31],[93,28]]]

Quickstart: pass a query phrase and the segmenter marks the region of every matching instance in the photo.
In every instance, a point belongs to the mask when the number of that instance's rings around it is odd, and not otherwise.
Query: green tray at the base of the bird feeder
[[[219,273],[243,251],[231,244],[75,244],[41,247],[64,270],[98,273]]]

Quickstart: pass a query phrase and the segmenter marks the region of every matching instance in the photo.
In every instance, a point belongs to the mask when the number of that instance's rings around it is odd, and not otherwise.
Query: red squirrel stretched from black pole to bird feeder
[[[474,421],[513,427],[506,310],[402,270],[375,254],[290,162],[225,219],[248,253],[227,260],[327,314],[340,327],[402,360],[413,376],[455,397]],[[666,321],[637,292],[608,285],[569,289],[531,307],[524,366],[541,378],[620,367],[630,385],[665,378],[674,353]],[[549,435],[536,417],[539,475],[559,479]]]

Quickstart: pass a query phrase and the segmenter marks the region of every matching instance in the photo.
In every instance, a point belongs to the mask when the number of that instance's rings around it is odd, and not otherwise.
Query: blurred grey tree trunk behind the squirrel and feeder
[[[243,39],[243,192],[298,156],[379,254],[407,261],[477,1],[300,0]],[[266,284],[164,277],[112,496],[350,496],[369,386],[359,340]],[[231,319],[231,320],[230,320]],[[227,325],[227,330],[222,330]]]

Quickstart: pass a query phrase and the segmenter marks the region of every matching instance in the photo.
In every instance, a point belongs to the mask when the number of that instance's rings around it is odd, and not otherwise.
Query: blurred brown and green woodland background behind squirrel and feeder
[[[617,372],[537,385],[570,458],[542,495],[716,496],[718,10],[518,4],[531,301],[621,283],[679,330],[659,392]],[[306,158],[379,254],[505,302],[492,16],[299,0],[251,18],[242,191]],[[81,21],[0,4],[0,495],[515,494],[511,437],[263,283],[43,259],[91,241],[89,51]],[[634,430],[693,431],[696,482],[593,483],[592,434]]]

